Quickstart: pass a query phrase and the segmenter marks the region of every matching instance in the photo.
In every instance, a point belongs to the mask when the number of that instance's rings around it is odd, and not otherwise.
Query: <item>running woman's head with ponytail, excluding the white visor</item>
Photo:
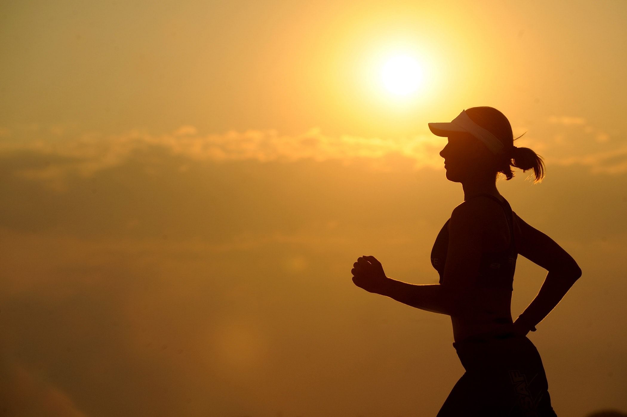
[[[482,141],[466,132],[450,132],[448,144],[441,150],[446,177],[462,182],[469,176],[494,177],[501,172],[507,180],[514,177],[512,166],[526,172],[534,170],[534,184],[542,181],[545,168],[542,157],[526,147],[514,147],[512,126],[507,117],[493,107],[471,107],[465,110],[475,124],[491,132],[503,144],[503,152],[493,154]]]

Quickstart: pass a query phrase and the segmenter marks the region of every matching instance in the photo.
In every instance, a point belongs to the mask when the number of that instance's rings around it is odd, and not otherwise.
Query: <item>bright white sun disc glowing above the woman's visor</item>
[[[408,96],[421,87],[423,70],[412,56],[396,55],[383,65],[381,80],[388,92],[396,96]]]

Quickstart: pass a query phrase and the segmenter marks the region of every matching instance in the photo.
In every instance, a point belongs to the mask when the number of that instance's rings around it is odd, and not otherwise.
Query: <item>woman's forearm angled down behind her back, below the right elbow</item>
[[[516,321],[529,329],[534,329],[535,325],[544,320],[544,317],[564,298],[564,295],[580,276],[581,270],[578,272],[549,271],[542,287],[540,287],[540,292]]]

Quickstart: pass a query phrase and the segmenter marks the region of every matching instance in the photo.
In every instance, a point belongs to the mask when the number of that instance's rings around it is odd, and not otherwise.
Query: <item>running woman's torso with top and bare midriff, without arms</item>
[[[478,277],[480,285],[475,288],[472,294],[469,294],[470,300],[473,301],[473,308],[469,309],[468,314],[463,317],[451,316],[453,339],[456,342],[475,335],[498,334],[503,332],[508,324],[512,324],[512,279],[517,255],[515,243],[520,236],[520,228],[516,224],[516,216],[510,211],[508,203],[500,198],[501,203],[498,204],[495,199],[495,196],[478,198],[473,203],[485,206],[485,213],[490,213],[490,217],[493,218],[493,221],[488,222],[482,237],[483,256],[492,253],[490,258],[486,258],[485,263],[490,263],[493,260],[498,261],[500,266],[497,269],[492,269],[484,265]],[[513,214],[513,246],[510,246],[510,224],[506,217],[506,210]],[[445,228],[447,225],[445,224]],[[440,235],[436,239],[431,260],[432,263],[435,262],[434,267],[440,273],[440,282],[442,282],[443,266],[446,262],[443,253],[445,253],[448,244],[448,231],[445,228],[440,231]],[[507,248],[509,248],[509,255],[513,256],[508,255]],[[436,256],[435,260],[434,255]],[[493,259],[492,256],[494,256]],[[440,259],[438,260],[437,257]],[[512,257],[514,258],[513,262]],[[496,267],[496,265],[493,266]]]

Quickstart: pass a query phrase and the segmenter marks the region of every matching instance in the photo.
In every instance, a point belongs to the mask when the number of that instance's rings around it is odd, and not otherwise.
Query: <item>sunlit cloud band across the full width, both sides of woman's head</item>
[[[618,147],[624,142],[586,124],[582,117],[551,116],[542,130],[544,137],[525,135],[519,146],[539,152],[548,164],[580,164],[593,174],[620,174],[627,168]],[[567,132],[554,127],[573,126]],[[297,161],[339,161],[344,165],[359,161],[374,171],[389,172],[400,167],[419,170],[442,168],[440,150],[445,138],[428,132],[404,137],[361,137],[327,135],[319,128],[302,134],[280,134],[277,130],[230,130],[222,134],[200,134],[192,125],[182,125],[171,133],[152,134],[133,129],[120,134],[79,133],[75,127],[54,125],[50,129],[3,130],[0,158],[13,161],[4,166],[23,179],[44,182],[58,193],[67,191],[69,176],[93,177],[146,154],[161,150],[189,162],[258,161],[290,163]],[[48,136],[46,136],[48,135]],[[531,136],[531,137],[528,137]],[[614,139],[614,140],[611,140]],[[517,142],[518,143],[518,142]],[[603,149],[603,150],[600,150]],[[16,163],[18,157],[23,162]],[[145,167],[147,172],[150,167]],[[179,171],[186,172],[182,163]]]

